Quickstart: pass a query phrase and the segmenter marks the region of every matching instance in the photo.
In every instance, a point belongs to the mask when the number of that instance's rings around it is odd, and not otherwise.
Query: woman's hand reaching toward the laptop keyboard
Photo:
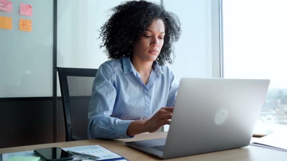
[[[155,132],[163,125],[169,125],[172,117],[173,107],[162,107],[150,119],[144,122],[144,129],[147,132]]]

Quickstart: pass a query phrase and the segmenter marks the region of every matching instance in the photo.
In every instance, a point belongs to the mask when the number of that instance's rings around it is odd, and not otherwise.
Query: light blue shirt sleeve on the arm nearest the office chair
[[[116,88],[112,84],[112,71],[112,67],[107,63],[102,64],[97,71],[88,112],[89,139],[130,138],[126,130],[132,120],[110,117],[117,97]]]

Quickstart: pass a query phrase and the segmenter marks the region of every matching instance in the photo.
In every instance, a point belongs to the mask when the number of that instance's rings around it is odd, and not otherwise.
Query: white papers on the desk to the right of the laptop
[[[251,145],[264,146],[269,148],[275,148],[280,150],[287,151],[287,130],[279,132],[272,132],[267,136],[264,136],[255,142],[251,143]]]

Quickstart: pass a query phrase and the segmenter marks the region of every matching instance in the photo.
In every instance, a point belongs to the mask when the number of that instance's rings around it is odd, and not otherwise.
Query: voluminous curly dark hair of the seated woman
[[[164,43],[157,58],[160,65],[173,63],[173,43],[179,40],[180,22],[178,16],[167,12],[161,5],[144,0],[126,1],[110,9],[113,14],[101,27],[100,48],[106,47],[105,53],[109,59],[119,59],[132,54],[132,46],[138,42],[142,33],[155,19],[161,19],[165,27]],[[171,58],[171,54],[173,57]]]

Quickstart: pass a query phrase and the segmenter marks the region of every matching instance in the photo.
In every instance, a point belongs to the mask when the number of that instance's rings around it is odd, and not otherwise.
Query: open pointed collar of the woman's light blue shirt
[[[136,71],[135,67],[131,63],[129,56],[124,56],[122,58],[122,61],[123,61],[124,73],[125,74],[133,72],[136,76],[139,75],[139,73]],[[161,66],[156,61],[154,61],[153,64],[152,64],[152,70],[153,70],[153,72],[155,72],[156,75],[163,74],[163,72],[161,70]]]

